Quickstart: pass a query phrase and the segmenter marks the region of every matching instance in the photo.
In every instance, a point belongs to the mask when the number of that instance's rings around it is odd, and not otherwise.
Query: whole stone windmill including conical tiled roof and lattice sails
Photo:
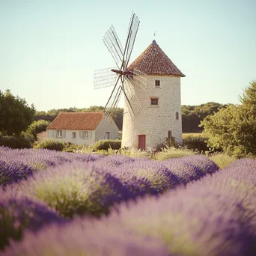
[[[109,124],[124,93],[122,147],[144,150],[168,137],[182,141],[180,77],[185,75],[155,40],[128,65],[138,25],[138,16],[132,13],[124,48],[113,26],[106,32],[103,42],[116,67],[95,70],[94,88],[114,86],[103,111]]]

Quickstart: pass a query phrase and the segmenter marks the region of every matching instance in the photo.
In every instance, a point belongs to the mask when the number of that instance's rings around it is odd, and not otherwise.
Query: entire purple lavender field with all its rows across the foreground
[[[0,255],[256,255],[256,161],[0,147]]]

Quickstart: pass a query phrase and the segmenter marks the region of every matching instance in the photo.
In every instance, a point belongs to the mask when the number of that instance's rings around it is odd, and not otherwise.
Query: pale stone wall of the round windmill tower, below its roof
[[[160,86],[155,86],[160,80]],[[138,148],[138,135],[146,135],[146,148],[155,148],[165,141],[168,130],[180,143],[182,142],[180,76],[147,76],[147,90],[133,86],[135,95],[142,106],[142,111],[132,121],[124,103],[124,123],[122,147]],[[150,105],[150,98],[158,98],[158,106]],[[176,120],[175,112],[179,113]]]

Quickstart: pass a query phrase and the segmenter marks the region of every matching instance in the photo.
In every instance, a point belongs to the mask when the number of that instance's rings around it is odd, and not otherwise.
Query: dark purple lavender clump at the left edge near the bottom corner
[[[0,249],[19,240],[25,228],[37,231],[46,223],[62,222],[55,210],[21,193],[0,188]]]

